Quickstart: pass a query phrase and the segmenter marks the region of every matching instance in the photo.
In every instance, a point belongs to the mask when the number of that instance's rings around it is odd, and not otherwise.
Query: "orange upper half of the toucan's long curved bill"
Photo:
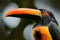
[[[30,9],[30,8],[18,8],[10,10],[6,13],[6,17],[10,15],[35,15],[35,16],[41,16],[41,12],[36,9]]]

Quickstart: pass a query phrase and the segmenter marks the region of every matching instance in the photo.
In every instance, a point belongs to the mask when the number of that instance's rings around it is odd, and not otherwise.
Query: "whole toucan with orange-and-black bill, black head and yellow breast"
[[[34,40],[60,40],[59,25],[52,12],[46,9],[17,8],[8,11],[5,17],[34,20],[32,28]]]

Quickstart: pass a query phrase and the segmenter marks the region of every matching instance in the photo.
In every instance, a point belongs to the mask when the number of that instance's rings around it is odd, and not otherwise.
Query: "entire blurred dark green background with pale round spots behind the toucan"
[[[7,11],[15,8],[49,10],[60,25],[60,0],[0,0],[0,40],[33,40],[33,20],[4,17]]]

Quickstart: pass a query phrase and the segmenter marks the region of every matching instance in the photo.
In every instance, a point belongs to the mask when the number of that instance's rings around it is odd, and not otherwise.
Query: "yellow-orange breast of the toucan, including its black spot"
[[[34,40],[53,40],[48,27],[35,27],[33,28]]]

